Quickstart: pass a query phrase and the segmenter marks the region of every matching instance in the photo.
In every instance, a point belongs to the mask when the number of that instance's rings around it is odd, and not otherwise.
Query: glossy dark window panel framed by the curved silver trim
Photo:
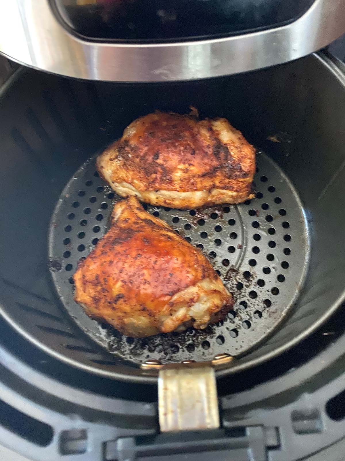
[[[169,41],[239,34],[292,22],[313,0],[53,0],[89,39]]]

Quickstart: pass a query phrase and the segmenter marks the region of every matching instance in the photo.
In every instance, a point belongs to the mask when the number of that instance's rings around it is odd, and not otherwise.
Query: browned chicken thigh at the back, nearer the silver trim
[[[255,149],[226,118],[157,111],[134,120],[97,168],[123,197],[191,209],[252,198]]]

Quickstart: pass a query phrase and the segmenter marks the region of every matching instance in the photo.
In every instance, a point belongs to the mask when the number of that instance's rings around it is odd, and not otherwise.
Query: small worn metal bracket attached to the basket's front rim
[[[219,427],[214,370],[210,366],[164,367],[158,377],[162,432]]]

